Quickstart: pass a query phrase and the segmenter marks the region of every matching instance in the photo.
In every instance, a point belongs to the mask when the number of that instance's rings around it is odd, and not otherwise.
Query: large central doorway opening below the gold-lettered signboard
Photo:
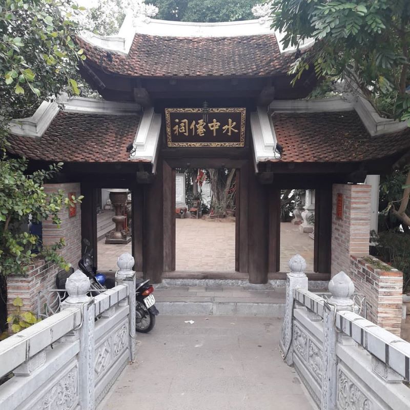
[[[175,270],[235,272],[237,172],[175,169]]]

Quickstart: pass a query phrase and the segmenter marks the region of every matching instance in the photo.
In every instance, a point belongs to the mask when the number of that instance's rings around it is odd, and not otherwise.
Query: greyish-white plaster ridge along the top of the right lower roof
[[[407,128],[406,121],[382,118],[363,97],[344,97],[306,99],[306,100],[275,100],[269,105],[272,112],[335,112],[356,110],[367,132],[372,135],[392,134]]]

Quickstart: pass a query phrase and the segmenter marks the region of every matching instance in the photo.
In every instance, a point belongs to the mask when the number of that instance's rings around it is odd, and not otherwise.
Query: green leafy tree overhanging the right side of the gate
[[[410,120],[410,2],[407,0],[273,0],[272,27],[285,32],[284,46],[315,39],[300,54],[293,83],[314,68],[321,80],[343,80],[386,117]],[[390,212],[410,226],[406,213],[410,171]]]

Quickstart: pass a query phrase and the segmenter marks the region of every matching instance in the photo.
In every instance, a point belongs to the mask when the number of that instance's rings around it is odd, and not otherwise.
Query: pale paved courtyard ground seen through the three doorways
[[[131,253],[127,245],[98,242],[98,270],[116,271],[117,257]],[[288,272],[289,259],[299,253],[306,271],[313,271],[313,239],[290,222],[280,224],[280,271]],[[176,219],[176,271],[235,271],[235,219]]]

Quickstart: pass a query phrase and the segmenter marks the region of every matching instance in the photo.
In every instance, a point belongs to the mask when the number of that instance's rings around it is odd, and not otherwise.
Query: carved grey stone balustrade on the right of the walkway
[[[403,383],[410,380],[410,343],[353,312],[354,284],[344,272],[329,282],[325,300],[308,291],[300,255],[289,265],[279,347],[318,407],[410,408]]]

